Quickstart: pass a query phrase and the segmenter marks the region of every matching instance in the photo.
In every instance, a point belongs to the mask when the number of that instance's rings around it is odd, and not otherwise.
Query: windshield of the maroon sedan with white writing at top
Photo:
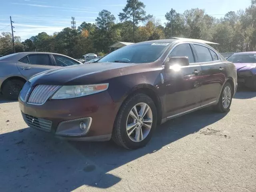
[[[156,61],[170,43],[143,43],[120,48],[98,62],[150,63]]]

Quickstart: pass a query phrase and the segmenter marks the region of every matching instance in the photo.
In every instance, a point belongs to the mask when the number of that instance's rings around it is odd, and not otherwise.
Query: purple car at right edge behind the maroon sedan
[[[256,52],[235,53],[227,60],[236,66],[238,83],[256,91]]]

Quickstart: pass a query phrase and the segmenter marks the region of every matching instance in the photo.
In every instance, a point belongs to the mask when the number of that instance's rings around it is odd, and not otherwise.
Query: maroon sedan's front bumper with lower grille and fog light
[[[28,126],[70,140],[110,140],[119,103],[107,91],[80,98],[47,100],[43,105],[27,104],[19,98],[20,110]],[[76,130],[84,122],[89,128]],[[74,129],[73,129],[74,128]]]

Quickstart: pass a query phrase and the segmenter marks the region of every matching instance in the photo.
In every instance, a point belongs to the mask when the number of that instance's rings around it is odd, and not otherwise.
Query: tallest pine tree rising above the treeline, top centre
[[[143,2],[139,0],[127,0],[127,4],[123,9],[123,13],[119,13],[120,21],[132,21],[133,27],[133,40],[135,42],[135,27],[140,21],[152,18],[152,15],[146,16],[146,11],[144,10],[146,6]]]

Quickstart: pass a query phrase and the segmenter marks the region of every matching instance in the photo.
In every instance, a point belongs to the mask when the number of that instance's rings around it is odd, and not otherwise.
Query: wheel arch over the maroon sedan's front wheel
[[[161,103],[160,97],[157,94],[156,88],[154,88],[154,86],[150,84],[140,84],[135,86],[126,94],[125,98],[122,101],[122,104],[126,100],[128,100],[130,97],[134,96],[134,94],[138,94],[138,93],[146,94],[153,100],[154,104],[156,105],[157,123],[160,124],[162,120],[162,103]]]

